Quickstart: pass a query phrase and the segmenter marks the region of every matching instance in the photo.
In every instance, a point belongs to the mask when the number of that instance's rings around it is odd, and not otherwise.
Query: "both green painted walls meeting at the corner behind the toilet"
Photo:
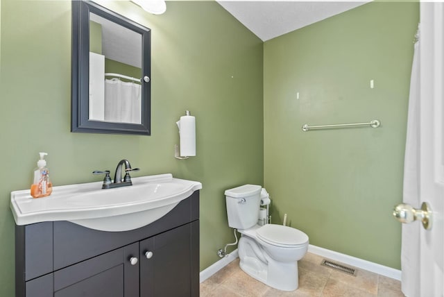
[[[0,1],[0,296],[14,291],[10,192],[29,187],[39,151],[55,185],[100,180],[91,172],[122,158],[136,176],[202,182],[200,269],[232,241],[223,191],[244,183],[264,183],[273,222],[287,213],[311,244],[400,268],[391,208],[402,194],[417,3],[369,3],[262,43],[214,2],[168,1],[157,16],[103,1],[153,30],[146,137],[70,133],[70,1]],[[185,110],[196,116],[197,156],[176,160]],[[300,130],[371,119],[382,126]]]

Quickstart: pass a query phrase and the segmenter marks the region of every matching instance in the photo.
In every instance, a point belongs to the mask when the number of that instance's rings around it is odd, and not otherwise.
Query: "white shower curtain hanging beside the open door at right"
[[[413,65],[410,78],[409,113],[404,157],[403,202],[420,205],[419,195],[419,99],[420,99],[420,56],[419,28],[414,44]],[[420,228],[419,223],[402,224],[402,292],[408,297],[420,296]]]

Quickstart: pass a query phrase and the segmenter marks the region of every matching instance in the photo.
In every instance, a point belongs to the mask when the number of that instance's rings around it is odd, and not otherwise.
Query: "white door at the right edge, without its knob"
[[[444,4],[420,3],[420,200],[432,228],[420,228],[420,296],[444,296]]]

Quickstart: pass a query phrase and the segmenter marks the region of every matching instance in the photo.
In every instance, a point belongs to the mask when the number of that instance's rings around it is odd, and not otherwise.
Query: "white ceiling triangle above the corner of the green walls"
[[[257,37],[266,41],[361,6],[371,0],[216,1]]]

